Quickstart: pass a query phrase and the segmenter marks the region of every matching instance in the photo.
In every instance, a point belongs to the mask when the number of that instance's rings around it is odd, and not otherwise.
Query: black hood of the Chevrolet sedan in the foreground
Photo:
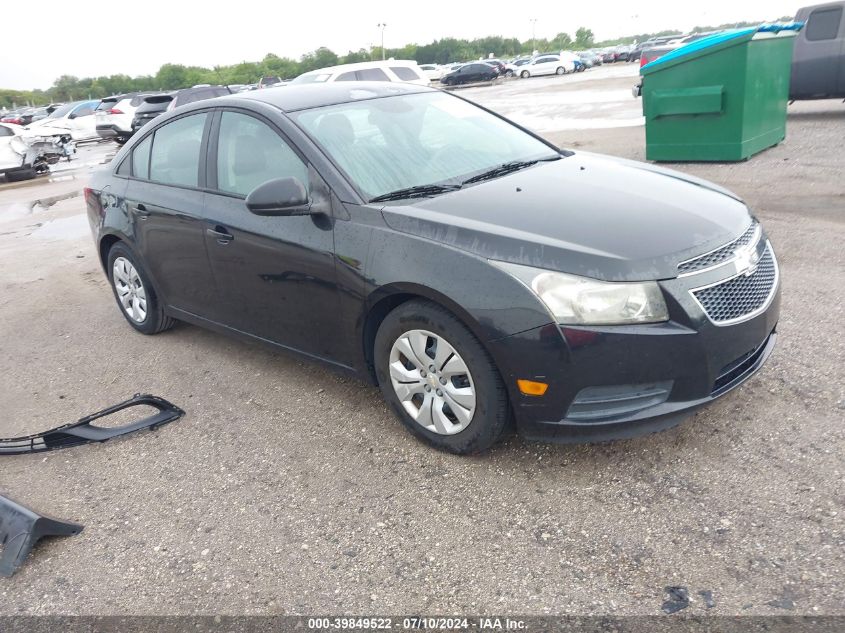
[[[481,257],[607,281],[676,277],[678,263],[751,222],[718,185],[586,152],[382,214],[396,231]]]

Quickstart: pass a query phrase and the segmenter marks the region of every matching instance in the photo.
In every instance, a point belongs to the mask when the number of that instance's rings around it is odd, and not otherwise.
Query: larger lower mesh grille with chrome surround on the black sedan
[[[693,290],[692,295],[716,325],[749,319],[761,312],[777,286],[778,268],[772,248],[766,250],[750,275],[741,273],[726,281]]]

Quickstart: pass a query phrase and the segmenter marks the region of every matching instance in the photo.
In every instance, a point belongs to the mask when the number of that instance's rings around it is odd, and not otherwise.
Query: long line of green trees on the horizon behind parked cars
[[[790,19],[790,18],[781,18]],[[696,31],[708,31],[720,28],[751,26],[759,22],[723,24],[718,27],[696,27]],[[558,33],[551,39],[536,38],[520,41],[517,38],[500,36],[482,37],[474,40],[443,38],[430,44],[407,44],[401,48],[385,48],[384,56],[394,59],[415,59],[420,64],[446,64],[470,59],[487,57],[490,53],[499,57],[530,55],[533,51],[584,50],[593,47],[614,46],[642,41],[649,37],[680,34],[680,31],[661,31],[658,33],[640,33],[616,40],[595,42],[593,32],[586,27],[579,27],[575,37],[568,33]],[[47,90],[5,90],[0,89],[0,107],[13,107],[26,104],[44,105],[57,101],[77,99],[99,99],[126,92],[145,92],[157,90],[176,90],[196,84],[251,84],[261,77],[278,76],[289,79],[309,70],[351,64],[382,58],[382,50],[376,46],[370,49],[349,51],[338,56],[331,49],[320,48],[306,53],[299,60],[279,57],[268,53],[257,62],[243,61],[231,66],[184,66],[182,64],[164,64],[154,75],[117,74],[102,77],[74,77],[62,75]]]

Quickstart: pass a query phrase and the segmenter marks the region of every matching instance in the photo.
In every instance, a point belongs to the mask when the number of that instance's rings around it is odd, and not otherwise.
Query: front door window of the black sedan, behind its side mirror
[[[295,177],[308,186],[308,167],[266,123],[238,112],[223,112],[217,142],[217,188],[246,196],[276,178]]]

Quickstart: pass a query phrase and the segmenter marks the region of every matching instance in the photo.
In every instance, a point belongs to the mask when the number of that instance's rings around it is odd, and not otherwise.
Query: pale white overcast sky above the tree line
[[[592,29],[597,40],[634,33],[795,15],[806,0],[558,0],[530,10],[488,0],[42,0],[0,31],[0,88],[49,88],[63,74],[92,77],[155,73],[164,63],[211,67],[258,61],[267,53],[299,58],[320,46],[338,54],[443,37],[551,38]],[[295,7],[295,8],[294,8]],[[490,51],[496,53],[496,51]]]

